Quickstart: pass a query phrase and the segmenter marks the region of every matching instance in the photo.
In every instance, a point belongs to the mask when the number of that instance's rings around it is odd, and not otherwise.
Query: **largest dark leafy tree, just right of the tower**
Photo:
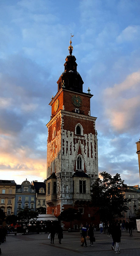
[[[128,199],[124,198],[127,185],[118,173],[112,177],[104,171],[100,176],[103,179],[98,178],[91,189],[93,206],[99,207],[101,220],[112,221],[115,215],[121,217],[122,211],[128,211]]]

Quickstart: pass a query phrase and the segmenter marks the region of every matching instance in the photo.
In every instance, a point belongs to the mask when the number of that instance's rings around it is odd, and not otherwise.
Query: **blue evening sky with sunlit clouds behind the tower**
[[[52,95],[72,37],[97,117],[99,173],[140,184],[139,0],[0,1],[0,179],[46,179]]]

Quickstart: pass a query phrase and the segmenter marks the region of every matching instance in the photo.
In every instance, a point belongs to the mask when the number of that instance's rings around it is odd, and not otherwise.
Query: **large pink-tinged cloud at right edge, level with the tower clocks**
[[[140,124],[140,71],[104,90],[105,115],[117,132],[138,132]]]

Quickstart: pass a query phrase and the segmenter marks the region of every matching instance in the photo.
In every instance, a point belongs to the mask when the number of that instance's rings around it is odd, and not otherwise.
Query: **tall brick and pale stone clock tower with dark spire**
[[[65,70],[59,77],[58,92],[52,97],[51,120],[47,123],[47,214],[60,215],[73,207],[86,221],[93,217],[91,185],[98,178],[98,150],[96,117],[90,114],[88,89],[83,92],[83,81],[77,72],[70,40]]]

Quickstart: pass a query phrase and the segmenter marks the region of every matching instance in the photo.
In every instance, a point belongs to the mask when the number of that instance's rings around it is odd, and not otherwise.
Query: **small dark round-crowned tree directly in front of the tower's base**
[[[72,221],[77,220],[81,217],[81,213],[74,208],[68,208],[64,211],[61,211],[61,214],[58,216],[58,220],[70,222],[72,229]]]

